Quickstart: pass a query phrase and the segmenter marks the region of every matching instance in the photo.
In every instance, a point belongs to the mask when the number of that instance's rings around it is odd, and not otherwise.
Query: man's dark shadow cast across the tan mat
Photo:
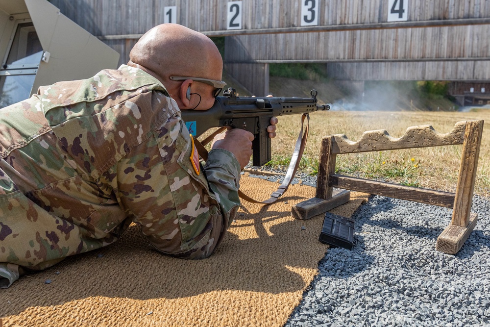
[[[3,306],[0,317],[26,307],[96,296],[147,300],[226,290],[271,294],[302,290],[306,280],[298,271],[314,276],[327,247],[318,242],[321,218],[291,220],[290,214],[264,206],[257,213],[237,215],[217,251],[203,260],[163,255],[149,246],[139,226],[132,225],[108,247],[69,257],[0,290],[2,302],[17,303],[16,309]],[[243,227],[241,223],[248,225],[249,238],[237,236],[235,229]],[[48,279],[51,282],[45,284]]]

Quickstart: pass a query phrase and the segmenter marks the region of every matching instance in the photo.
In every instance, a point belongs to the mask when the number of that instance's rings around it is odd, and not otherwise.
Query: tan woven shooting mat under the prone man
[[[269,198],[277,186],[241,180],[255,199]],[[272,205],[244,202],[204,260],[161,255],[132,225],[113,245],[0,289],[0,327],[282,326],[328,249],[318,241],[322,216],[291,217],[292,205],[314,195],[315,188],[296,184]],[[332,212],[350,216],[364,201],[366,194],[352,192],[351,201]]]

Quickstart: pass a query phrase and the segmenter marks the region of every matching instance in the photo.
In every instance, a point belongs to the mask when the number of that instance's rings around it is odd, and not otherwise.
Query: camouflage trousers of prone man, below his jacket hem
[[[5,175],[0,177],[2,186],[7,180]],[[116,228],[97,239],[91,236],[92,231],[53,216],[21,191],[7,194],[1,191],[5,189],[0,187],[0,288],[9,287],[30,270],[43,270],[69,255],[109,245],[131,223],[130,219],[108,220],[107,224]],[[11,236],[8,243],[3,242],[7,236]]]

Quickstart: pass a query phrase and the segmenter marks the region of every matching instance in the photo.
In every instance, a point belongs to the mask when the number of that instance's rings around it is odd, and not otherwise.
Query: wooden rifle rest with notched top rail
[[[292,215],[306,220],[349,201],[349,191],[334,190],[334,187],[452,208],[451,224],[439,235],[436,249],[455,254],[465,243],[478,219],[476,214],[470,214],[470,209],[483,123],[483,120],[459,122],[447,134],[436,132],[430,125],[414,126],[409,127],[399,139],[391,137],[386,130],[365,132],[358,142],[350,141],[344,134],[325,136],[321,142],[316,197],[295,205]],[[337,154],[458,144],[463,144],[463,153],[456,193],[335,174]]]

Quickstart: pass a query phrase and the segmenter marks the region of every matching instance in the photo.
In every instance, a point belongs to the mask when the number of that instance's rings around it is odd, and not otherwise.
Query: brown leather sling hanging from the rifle
[[[304,126],[305,119],[306,119],[306,126],[304,127],[304,133],[303,133],[303,126]],[[284,176],[283,182],[277,188],[277,191],[273,192],[268,200],[257,201],[250,198],[242,191],[238,190],[238,195],[240,196],[240,198],[251,203],[270,204],[277,201],[284,194],[284,192],[286,192],[289,185],[291,184],[291,181],[293,180],[294,175],[296,174],[296,171],[298,170],[299,162],[301,161],[301,157],[303,156],[303,152],[306,146],[306,141],[308,139],[309,122],[310,122],[310,116],[308,114],[303,114],[301,116],[301,130],[299,132],[298,139],[296,140],[296,145],[294,146],[294,152],[293,152],[293,156],[291,157],[291,162],[289,164],[288,171],[286,172],[286,176]],[[204,148],[204,146],[197,140],[194,140],[194,144],[196,145],[197,152],[199,153],[201,158],[204,161],[206,161],[208,159],[208,151],[206,150],[206,148]]]

